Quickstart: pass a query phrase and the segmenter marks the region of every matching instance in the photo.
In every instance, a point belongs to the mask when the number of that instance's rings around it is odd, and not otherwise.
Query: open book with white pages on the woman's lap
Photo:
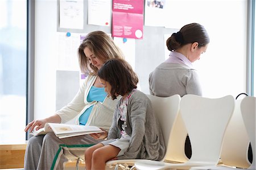
[[[53,131],[60,139],[104,132],[96,126],[68,125],[63,123],[46,123],[44,128],[40,128],[39,130],[35,130],[35,128],[31,132],[32,135],[44,135]]]

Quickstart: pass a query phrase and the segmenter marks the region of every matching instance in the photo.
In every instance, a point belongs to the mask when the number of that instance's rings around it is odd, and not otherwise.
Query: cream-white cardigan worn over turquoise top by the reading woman
[[[76,117],[76,124],[79,125],[81,114],[90,106],[94,105],[86,125],[98,126],[109,130],[118,99],[113,100],[111,97],[106,97],[103,102],[88,102],[87,96],[96,78],[97,76],[91,75],[86,77],[84,84],[80,86],[79,92],[77,92],[73,100],[67,106],[56,111],[56,114],[61,118],[61,123],[66,123]]]

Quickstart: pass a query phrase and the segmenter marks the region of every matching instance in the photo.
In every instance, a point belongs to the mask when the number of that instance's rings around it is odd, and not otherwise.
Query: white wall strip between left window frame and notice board
[[[56,9],[56,1],[35,3],[35,119],[55,112]]]

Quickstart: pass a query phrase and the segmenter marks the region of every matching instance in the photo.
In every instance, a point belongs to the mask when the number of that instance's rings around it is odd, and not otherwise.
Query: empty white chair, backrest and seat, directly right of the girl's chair
[[[187,94],[181,98],[180,114],[191,140],[192,156],[185,163],[139,160],[137,169],[185,169],[216,165],[226,126],[234,111],[234,97],[205,98]]]

